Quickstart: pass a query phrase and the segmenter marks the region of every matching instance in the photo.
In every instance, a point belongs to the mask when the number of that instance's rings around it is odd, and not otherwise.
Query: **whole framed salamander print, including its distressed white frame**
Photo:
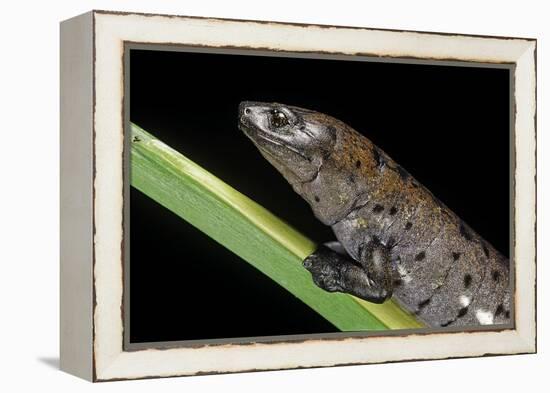
[[[536,351],[536,41],[61,23],[61,368]]]

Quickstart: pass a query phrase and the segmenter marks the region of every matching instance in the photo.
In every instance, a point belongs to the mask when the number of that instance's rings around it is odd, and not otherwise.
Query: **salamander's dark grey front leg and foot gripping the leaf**
[[[388,254],[382,245],[368,244],[360,256],[358,264],[347,255],[321,246],[303,265],[311,273],[313,282],[328,292],[344,292],[383,303],[393,291]]]

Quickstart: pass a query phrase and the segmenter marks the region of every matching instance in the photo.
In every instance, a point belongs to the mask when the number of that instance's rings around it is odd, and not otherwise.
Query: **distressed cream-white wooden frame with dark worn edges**
[[[514,326],[125,351],[127,43],[514,67]],[[536,351],[536,40],[92,11],[62,22],[60,64],[63,370],[107,381]]]

